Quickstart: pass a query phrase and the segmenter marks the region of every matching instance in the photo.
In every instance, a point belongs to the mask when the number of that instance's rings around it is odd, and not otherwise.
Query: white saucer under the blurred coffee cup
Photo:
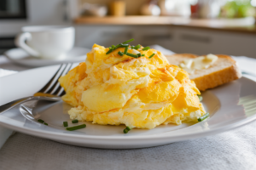
[[[27,54],[25,50],[21,48],[9,49],[4,55],[18,65],[25,65],[30,67],[56,65],[61,63],[74,63],[81,62],[86,59],[86,54],[90,52],[89,48],[78,48],[71,49],[61,59],[37,59]]]

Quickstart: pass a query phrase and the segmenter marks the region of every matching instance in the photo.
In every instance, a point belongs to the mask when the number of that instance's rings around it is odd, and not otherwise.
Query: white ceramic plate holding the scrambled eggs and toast
[[[59,65],[41,67],[0,78],[0,105],[34,94],[48,82],[58,67]],[[125,126],[102,126],[85,122],[86,128],[69,132],[62,127],[62,122],[69,120],[67,110],[70,106],[62,102],[38,102],[31,110],[29,105],[33,105],[33,102],[1,114],[0,125],[21,133],[86,147],[150,147],[222,133],[252,122],[256,119],[255,87],[256,82],[242,77],[203,93],[203,105],[210,112],[210,118],[195,124],[161,125],[151,130],[132,129],[124,134],[122,131]],[[38,118],[49,126],[38,123],[35,120]],[[70,125],[71,122],[68,122]],[[84,122],[79,122],[81,123]]]

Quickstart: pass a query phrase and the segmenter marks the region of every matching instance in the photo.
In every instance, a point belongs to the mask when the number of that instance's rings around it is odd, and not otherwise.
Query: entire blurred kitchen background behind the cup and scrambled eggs
[[[22,26],[72,25],[78,47],[135,38],[175,53],[256,58],[256,0],[0,0],[0,54]]]

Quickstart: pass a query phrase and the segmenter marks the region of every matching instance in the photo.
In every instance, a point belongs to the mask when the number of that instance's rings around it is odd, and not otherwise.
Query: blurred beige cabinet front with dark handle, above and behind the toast
[[[174,29],[176,53],[229,54],[256,58],[256,34],[202,29]]]

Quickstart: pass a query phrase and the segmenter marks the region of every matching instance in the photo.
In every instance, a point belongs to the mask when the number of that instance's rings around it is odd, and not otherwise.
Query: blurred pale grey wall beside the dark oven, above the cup
[[[14,36],[20,27],[27,25],[70,24],[65,19],[66,6],[63,0],[26,0],[26,19],[0,20],[0,37]]]

